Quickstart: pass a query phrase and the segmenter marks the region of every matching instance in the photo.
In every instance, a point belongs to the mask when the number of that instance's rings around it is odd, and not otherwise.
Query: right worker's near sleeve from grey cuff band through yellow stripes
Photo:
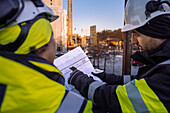
[[[82,84],[85,81],[82,81]],[[83,89],[82,89],[83,91]],[[145,79],[134,79],[125,85],[108,85],[94,81],[89,84],[87,97],[108,112],[166,112],[167,109]]]

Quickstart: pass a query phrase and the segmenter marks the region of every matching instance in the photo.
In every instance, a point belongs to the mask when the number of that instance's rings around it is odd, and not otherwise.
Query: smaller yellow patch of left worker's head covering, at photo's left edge
[[[0,44],[6,45],[14,42],[21,32],[19,25],[10,26],[0,31]]]

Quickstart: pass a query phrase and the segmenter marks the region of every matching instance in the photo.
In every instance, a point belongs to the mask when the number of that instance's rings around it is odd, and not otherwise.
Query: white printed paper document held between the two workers
[[[76,92],[75,88],[72,85],[67,83],[68,77],[72,72],[70,67],[74,66],[78,70],[82,71],[83,73],[87,74],[88,76],[92,76],[91,72],[94,72],[94,67],[91,64],[89,58],[81,49],[81,47],[77,47],[66,54],[56,58],[54,60],[54,65],[63,73],[65,78],[65,87],[67,90],[72,90]],[[98,77],[93,76],[95,80],[100,79]]]

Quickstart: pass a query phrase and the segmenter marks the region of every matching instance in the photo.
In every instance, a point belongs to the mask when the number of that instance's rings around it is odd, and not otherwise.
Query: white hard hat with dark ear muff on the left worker
[[[0,11],[0,30],[32,20],[43,13],[50,22],[59,17],[42,0],[0,0]]]

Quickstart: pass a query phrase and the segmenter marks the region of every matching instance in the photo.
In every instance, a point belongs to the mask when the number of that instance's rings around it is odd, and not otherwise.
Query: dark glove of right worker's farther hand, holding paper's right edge
[[[123,84],[123,77],[122,76],[116,76],[114,74],[106,74],[104,72],[101,73],[94,73],[92,72],[94,76],[99,77],[101,80],[106,82],[109,85],[122,85]]]

